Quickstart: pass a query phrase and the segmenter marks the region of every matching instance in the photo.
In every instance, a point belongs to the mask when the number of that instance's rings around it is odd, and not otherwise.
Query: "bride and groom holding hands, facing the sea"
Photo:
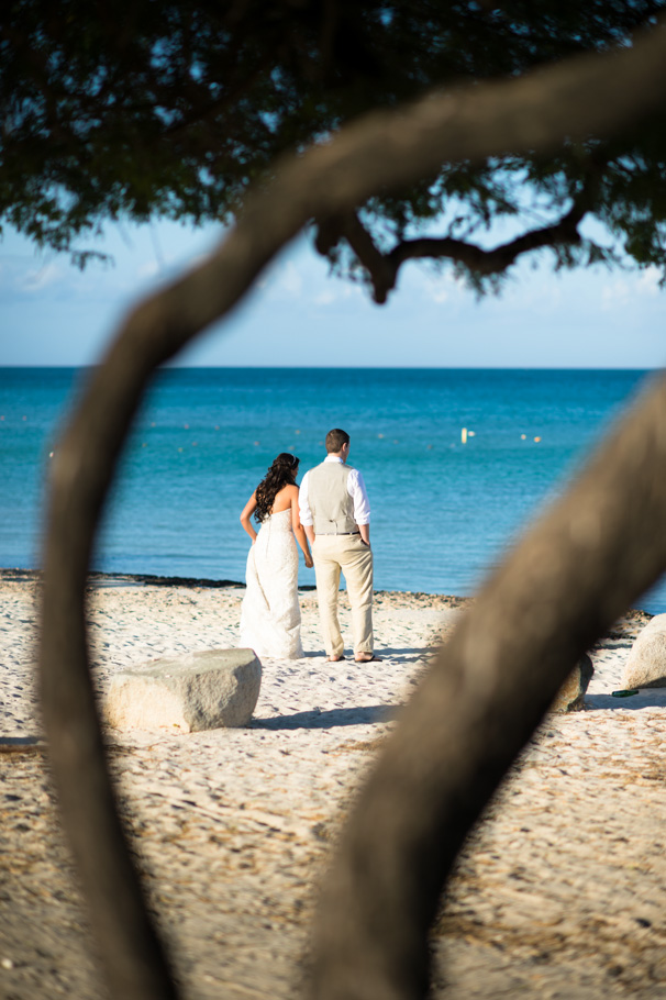
[[[344,659],[337,616],[344,574],[358,663],[378,659],[373,646],[373,551],[370,505],[360,473],[347,465],[349,435],[326,434],[326,457],[296,484],[299,459],[277,456],[245,504],[241,523],[252,538],[241,610],[241,645],[259,656],[303,656],[298,602],[298,549],[314,564],[317,597],[326,656]],[[252,515],[259,523],[258,533]],[[310,554],[312,546],[312,555]]]

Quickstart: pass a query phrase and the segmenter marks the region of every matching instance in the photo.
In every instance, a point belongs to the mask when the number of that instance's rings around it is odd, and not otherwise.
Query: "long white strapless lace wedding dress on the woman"
[[[291,509],[262,522],[247,555],[246,590],[241,608],[242,647],[257,656],[299,659],[301,610],[298,603],[298,548]]]

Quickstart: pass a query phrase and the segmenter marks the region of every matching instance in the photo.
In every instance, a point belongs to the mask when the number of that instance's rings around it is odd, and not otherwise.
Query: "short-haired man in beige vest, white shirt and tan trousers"
[[[373,551],[370,505],[363,476],[346,464],[349,435],[326,434],[326,457],[306,473],[299,493],[300,519],[312,546],[317,597],[326,654],[344,659],[337,619],[340,574],[347,581],[352,605],[354,659],[379,659],[373,653]]]

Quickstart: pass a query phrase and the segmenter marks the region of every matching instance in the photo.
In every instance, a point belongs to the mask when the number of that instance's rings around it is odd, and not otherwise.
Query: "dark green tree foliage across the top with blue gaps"
[[[5,0],[0,13],[0,221],[76,249],[104,220],[230,220],[277,154],[432,87],[515,76],[626,40],[666,0]],[[379,193],[362,219],[388,252],[433,223],[473,240],[531,229],[585,193],[639,266],[664,267],[666,129],[437,176]],[[609,263],[558,244],[557,266]],[[340,248],[344,273],[358,262]],[[500,274],[458,262],[478,290]]]

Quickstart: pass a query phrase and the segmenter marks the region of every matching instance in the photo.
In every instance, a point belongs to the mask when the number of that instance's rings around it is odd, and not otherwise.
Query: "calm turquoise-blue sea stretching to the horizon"
[[[304,471],[323,457],[326,431],[342,426],[370,497],[376,587],[470,595],[645,375],[164,370],[123,459],[93,568],[243,580],[238,514],[266,468],[293,451]],[[48,456],[85,378],[0,369],[2,567],[40,565]],[[300,582],[313,581],[301,566]],[[666,611],[666,586],[641,603]]]

